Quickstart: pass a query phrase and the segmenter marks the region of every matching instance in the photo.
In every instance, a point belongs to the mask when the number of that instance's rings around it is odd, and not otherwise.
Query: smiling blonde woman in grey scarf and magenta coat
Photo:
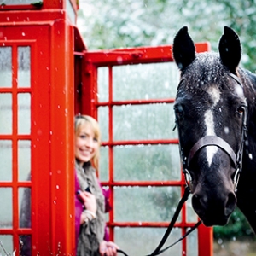
[[[106,200],[108,193],[102,189],[96,177],[96,169],[93,167],[97,167],[100,145],[101,135],[96,119],[87,115],[76,116],[77,256],[115,256],[119,248],[112,241],[108,241],[104,219],[104,212],[109,210],[108,200]]]

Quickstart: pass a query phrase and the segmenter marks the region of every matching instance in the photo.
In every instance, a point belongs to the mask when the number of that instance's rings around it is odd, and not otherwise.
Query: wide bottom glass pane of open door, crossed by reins
[[[166,228],[115,228],[114,241],[128,255],[148,255],[158,246],[165,232]],[[181,229],[173,229],[164,247],[171,245],[181,236]],[[160,255],[183,255],[182,242],[177,243],[174,247]]]

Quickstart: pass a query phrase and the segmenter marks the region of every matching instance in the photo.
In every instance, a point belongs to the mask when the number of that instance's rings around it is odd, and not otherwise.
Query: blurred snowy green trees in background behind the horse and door
[[[241,66],[256,71],[256,0],[79,0],[78,26],[89,50],[172,44],[182,26],[195,42],[209,41],[218,50],[224,26],[241,38]],[[218,239],[253,236],[239,210]]]

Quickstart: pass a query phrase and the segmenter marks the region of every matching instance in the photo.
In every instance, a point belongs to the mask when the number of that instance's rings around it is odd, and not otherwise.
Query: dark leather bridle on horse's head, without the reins
[[[241,88],[243,88],[241,84],[241,80],[236,75],[234,75],[233,73],[229,73],[229,76],[230,78],[235,79],[236,83],[239,84]],[[181,82],[183,82],[183,80],[180,81],[180,84]],[[178,131],[178,137],[180,138],[180,131],[178,129],[177,122],[176,122],[176,126]],[[205,148],[207,146],[217,146],[218,148],[221,148],[226,154],[230,156],[230,160],[236,170],[233,178],[234,190],[236,192],[237,184],[238,184],[241,169],[242,169],[242,155],[243,155],[243,148],[246,140],[247,140],[247,106],[244,106],[243,113],[242,113],[241,141],[240,141],[240,146],[237,153],[234,152],[233,148],[230,147],[229,143],[225,142],[223,138],[218,136],[201,137],[192,146],[187,156],[183,153],[183,148],[179,143],[180,157],[183,165],[183,173],[184,173],[185,181],[190,189],[190,192],[193,186],[193,178],[189,172],[191,160],[193,160],[193,158],[195,157],[195,154],[197,154],[201,150],[201,148]]]

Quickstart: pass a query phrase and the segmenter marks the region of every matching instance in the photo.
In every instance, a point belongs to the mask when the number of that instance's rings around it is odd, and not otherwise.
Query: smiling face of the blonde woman
[[[99,143],[89,123],[81,126],[79,134],[75,137],[75,157],[83,165],[90,161],[99,150]]]

